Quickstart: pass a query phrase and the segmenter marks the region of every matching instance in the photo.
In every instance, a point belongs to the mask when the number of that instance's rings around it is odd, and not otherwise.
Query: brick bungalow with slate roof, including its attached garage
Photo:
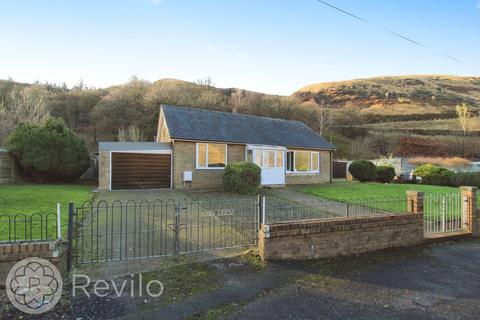
[[[263,186],[331,182],[334,149],[299,121],[162,105],[156,142],[99,143],[99,189],[216,189],[240,161]]]

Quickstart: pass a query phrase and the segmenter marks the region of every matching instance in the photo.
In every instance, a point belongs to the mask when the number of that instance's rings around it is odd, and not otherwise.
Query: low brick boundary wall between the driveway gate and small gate
[[[303,221],[262,226],[266,260],[307,260],[352,255],[423,242],[423,214]]]

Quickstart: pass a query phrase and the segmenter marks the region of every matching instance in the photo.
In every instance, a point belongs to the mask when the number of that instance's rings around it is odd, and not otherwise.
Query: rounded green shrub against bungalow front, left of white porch
[[[254,163],[228,164],[223,173],[223,186],[228,192],[254,194],[260,185],[260,172],[260,167]]]

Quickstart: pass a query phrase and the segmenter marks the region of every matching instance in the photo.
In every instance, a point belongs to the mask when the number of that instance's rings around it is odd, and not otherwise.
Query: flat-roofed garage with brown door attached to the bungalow
[[[103,172],[99,171],[99,181],[108,186],[106,189],[164,189],[172,186],[172,151],[168,143],[100,143],[99,161],[100,168],[103,168]]]

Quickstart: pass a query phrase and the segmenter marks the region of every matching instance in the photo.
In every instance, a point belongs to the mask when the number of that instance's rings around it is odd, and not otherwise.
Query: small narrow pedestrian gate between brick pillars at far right
[[[431,194],[424,197],[424,233],[448,233],[466,231],[467,208],[471,201],[460,193]]]

